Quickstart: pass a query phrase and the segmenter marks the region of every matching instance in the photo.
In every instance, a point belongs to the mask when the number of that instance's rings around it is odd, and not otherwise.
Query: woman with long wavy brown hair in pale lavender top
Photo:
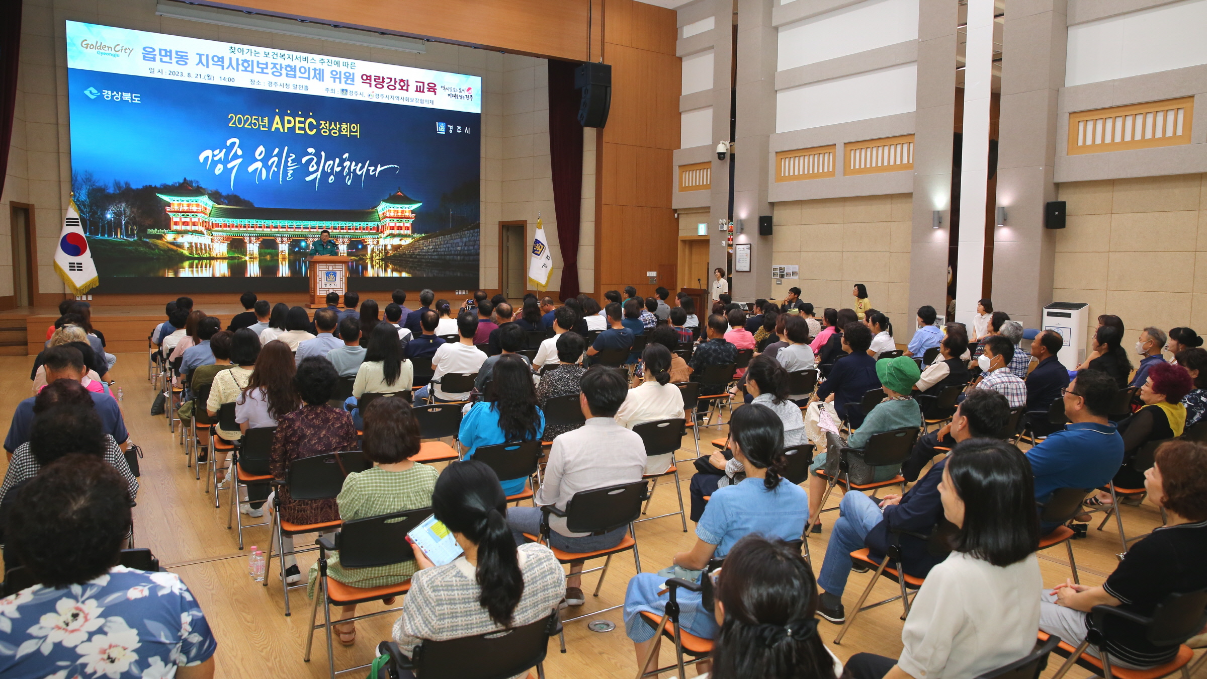
[[[302,407],[302,399],[293,387],[295,372],[290,348],[284,342],[264,344],[256,360],[256,368],[247,378],[246,389],[240,391],[234,401],[234,420],[239,424],[240,434],[246,434],[249,429],[276,426],[276,420],[281,416]],[[249,474],[260,476],[272,474],[268,462],[262,459],[244,455],[239,464]],[[264,516],[262,507],[266,498],[268,498],[268,486],[249,486],[247,499],[251,500],[251,505],[240,505],[239,511],[252,518]]]

